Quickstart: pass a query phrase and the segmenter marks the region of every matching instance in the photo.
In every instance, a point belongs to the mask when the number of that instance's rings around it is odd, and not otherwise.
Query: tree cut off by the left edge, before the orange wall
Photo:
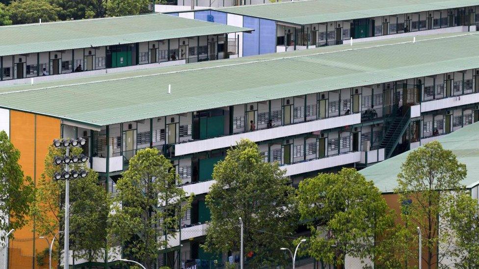
[[[20,151],[10,142],[6,132],[0,131],[0,231],[23,227],[33,201],[33,182],[29,176],[24,176],[19,159]]]

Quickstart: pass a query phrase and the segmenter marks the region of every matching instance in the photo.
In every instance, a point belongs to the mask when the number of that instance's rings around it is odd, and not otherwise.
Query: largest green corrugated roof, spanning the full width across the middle
[[[479,68],[479,34],[416,40],[364,42],[352,49],[338,45],[1,87],[0,107],[102,126]]]

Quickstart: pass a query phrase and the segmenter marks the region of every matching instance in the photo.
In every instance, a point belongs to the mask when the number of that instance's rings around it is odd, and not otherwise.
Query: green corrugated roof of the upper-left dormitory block
[[[0,27],[0,56],[248,31],[165,14]]]

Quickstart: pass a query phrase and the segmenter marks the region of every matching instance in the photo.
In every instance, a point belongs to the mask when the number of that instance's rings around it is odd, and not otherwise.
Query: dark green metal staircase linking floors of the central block
[[[384,157],[388,159],[398,146],[404,132],[411,122],[411,109],[409,108],[403,116],[397,115],[389,125],[380,147],[384,148]]]

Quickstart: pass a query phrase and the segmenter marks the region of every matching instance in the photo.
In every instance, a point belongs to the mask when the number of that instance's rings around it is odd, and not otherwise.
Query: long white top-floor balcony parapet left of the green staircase
[[[253,142],[265,141],[280,137],[310,133],[319,130],[337,128],[346,125],[361,123],[361,114],[351,114],[335,118],[316,120],[311,122],[295,123],[291,125],[274,127],[271,129],[256,130],[240,134],[215,137],[205,140],[186,142],[175,145],[175,155],[181,156],[195,152],[208,151],[218,148],[231,147],[242,138]]]

